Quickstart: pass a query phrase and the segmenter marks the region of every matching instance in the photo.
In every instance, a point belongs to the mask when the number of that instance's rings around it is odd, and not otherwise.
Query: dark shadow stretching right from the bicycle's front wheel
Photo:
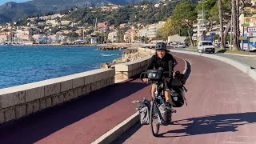
[[[169,130],[166,133],[159,134],[159,137],[169,138],[198,134],[235,132],[238,131],[239,126],[255,122],[256,112],[239,114],[217,114],[199,118],[182,119],[175,121],[173,124],[182,126],[182,129]],[[165,134],[175,134],[175,136],[165,136]]]

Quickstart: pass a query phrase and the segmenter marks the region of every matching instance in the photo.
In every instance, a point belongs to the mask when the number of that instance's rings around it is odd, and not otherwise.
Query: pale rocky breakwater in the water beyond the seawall
[[[134,61],[145,57],[146,54],[138,52],[138,49],[127,49],[122,53],[122,58],[116,58],[112,62],[102,63],[101,68],[114,68],[115,64]]]

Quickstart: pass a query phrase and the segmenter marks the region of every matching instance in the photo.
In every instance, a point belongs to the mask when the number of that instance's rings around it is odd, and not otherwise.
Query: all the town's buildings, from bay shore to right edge
[[[255,0],[251,1],[251,6],[245,7],[246,12],[250,14],[241,14],[239,17],[239,30],[241,35],[241,43],[252,43],[256,47],[256,9]],[[165,6],[165,2],[154,4],[154,8]],[[140,7],[145,10],[146,5]],[[109,4],[107,6],[89,7],[94,13],[96,9],[102,12],[111,12],[120,9],[122,6]],[[134,5],[135,8],[138,6]],[[74,11],[77,9],[73,9]],[[68,12],[71,12],[69,10]],[[198,10],[198,18],[193,22],[193,40],[202,40],[202,34],[206,33],[204,39],[210,40],[216,44],[219,39],[219,25],[214,22],[212,26],[207,27],[209,22],[205,20],[204,11]],[[162,39],[158,37],[160,30],[166,22],[159,21],[151,24],[143,23],[121,23],[118,26],[110,24],[110,22],[98,22],[95,18],[94,25],[83,25],[82,22],[73,22],[71,19],[62,20],[66,14],[50,14],[46,16],[37,16],[27,18],[26,24],[17,22],[8,22],[0,25],[0,43],[15,45],[63,45],[63,44],[90,44],[96,45],[101,43],[126,42],[126,43],[154,43],[158,41],[165,42],[187,42],[188,37],[181,34],[170,34],[168,38]],[[227,24],[226,24],[227,25]],[[224,26],[224,30],[227,26]],[[232,30],[229,31],[231,36]],[[232,37],[232,36],[231,36]],[[249,42],[248,42],[249,40]],[[230,46],[230,41],[226,42]],[[246,49],[246,46],[243,47]]]

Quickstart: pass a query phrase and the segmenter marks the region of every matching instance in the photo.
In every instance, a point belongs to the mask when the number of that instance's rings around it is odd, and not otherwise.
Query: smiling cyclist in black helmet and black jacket
[[[146,70],[152,70],[152,69],[158,69],[158,67],[162,67],[163,71],[170,71],[169,70],[169,62],[171,61],[173,64],[172,71],[174,71],[174,66],[176,65],[175,58],[168,53],[168,50],[166,50],[166,43],[164,42],[158,42],[155,46],[156,54],[154,54],[150,58],[150,63],[146,67]],[[170,98],[170,85],[171,85],[171,78],[169,74],[165,74],[164,81],[167,83],[167,86],[165,86],[165,98],[166,102],[172,103]],[[143,78],[143,82],[148,82],[148,78]],[[152,84],[151,88],[151,96],[154,98],[154,91],[156,89],[156,85]]]

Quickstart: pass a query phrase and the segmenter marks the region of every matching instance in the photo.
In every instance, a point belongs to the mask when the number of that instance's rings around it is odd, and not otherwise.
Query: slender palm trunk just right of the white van
[[[219,32],[221,37],[221,50],[225,49],[224,46],[224,34],[223,34],[223,12],[222,12],[222,0],[218,0],[218,18],[219,18]]]

